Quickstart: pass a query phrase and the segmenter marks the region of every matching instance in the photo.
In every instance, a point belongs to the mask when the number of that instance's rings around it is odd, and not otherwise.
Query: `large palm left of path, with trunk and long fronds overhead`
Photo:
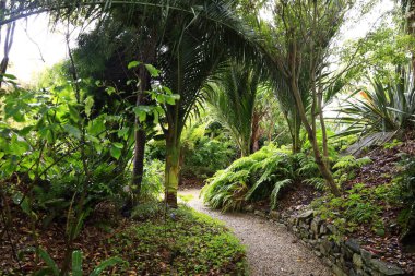
[[[142,47],[139,59],[163,71],[159,82],[180,99],[166,106],[166,200],[177,205],[180,134],[200,91],[216,68],[230,57],[258,58],[253,32],[234,12],[232,0],[162,0],[162,1],[27,1],[19,11],[0,19],[0,25],[13,20],[52,12],[57,19],[85,16],[94,19],[110,12],[121,16],[126,26],[140,27]],[[139,89],[150,88],[145,69],[139,75],[146,80]],[[142,97],[138,96],[138,104]],[[140,128],[139,128],[140,129]],[[140,133],[137,133],[140,134]],[[138,136],[138,139],[140,135]],[[138,147],[139,145],[137,145]]]

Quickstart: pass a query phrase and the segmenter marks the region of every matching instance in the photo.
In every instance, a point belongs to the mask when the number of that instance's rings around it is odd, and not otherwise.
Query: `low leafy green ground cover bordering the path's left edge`
[[[246,275],[245,248],[222,223],[180,206],[108,240],[129,262],[119,275]],[[135,275],[134,274],[134,275]]]

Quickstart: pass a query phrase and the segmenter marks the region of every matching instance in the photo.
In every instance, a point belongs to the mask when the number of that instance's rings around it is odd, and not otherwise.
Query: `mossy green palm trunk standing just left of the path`
[[[177,208],[180,175],[180,136],[176,134],[175,128],[169,128],[166,136],[165,201],[171,208]]]

